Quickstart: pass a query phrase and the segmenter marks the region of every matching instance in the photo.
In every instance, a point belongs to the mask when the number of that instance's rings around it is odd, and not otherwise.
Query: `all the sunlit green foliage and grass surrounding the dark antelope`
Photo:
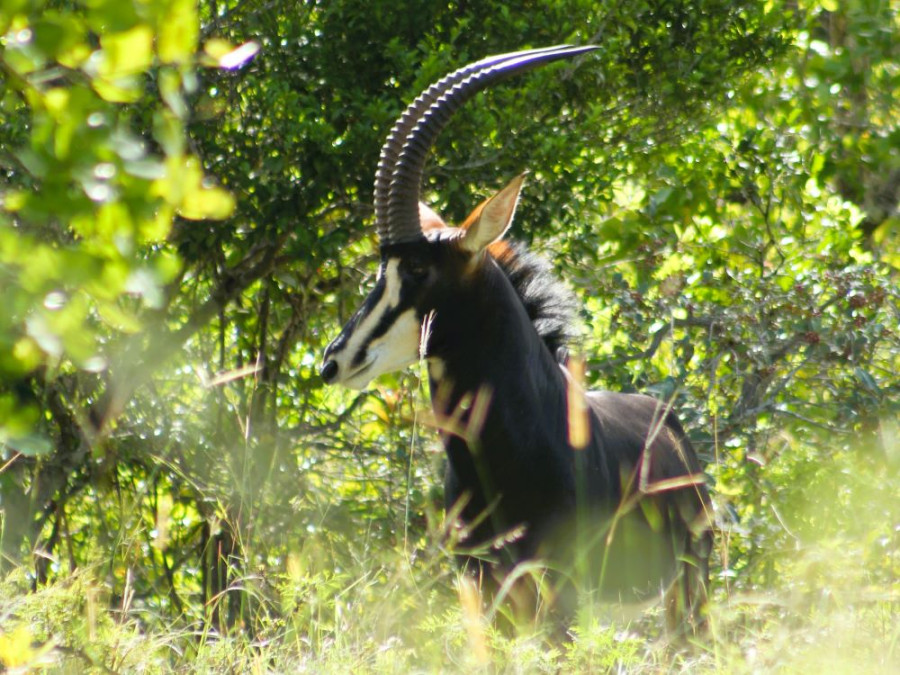
[[[0,0],[0,663],[889,672],[897,34],[856,0]],[[512,236],[582,296],[592,383],[677,399],[719,520],[695,650],[654,610],[498,631],[421,379],[316,375],[403,106],[561,42],[600,49],[476,98],[425,194],[452,221],[529,169]]]

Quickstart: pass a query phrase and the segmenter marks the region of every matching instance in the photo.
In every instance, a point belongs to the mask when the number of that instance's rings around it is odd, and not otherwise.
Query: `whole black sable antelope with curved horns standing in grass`
[[[712,541],[699,461],[665,403],[583,392],[558,362],[573,302],[546,262],[503,240],[523,177],[459,227],[419,203],[426,155],[465,101],[591,49],[489,57],[407,108],[375,178],[377,281],[328,345],[321,376],[362,389],[426,359],[434,413],[446,422],[446,504],[459,512],[464,559],[476,571],[485,558],[475,552],[492,544],[503,571],[530,559],[570,569],[587,559],[588,585],[604,596],[668,589],[670,623],[696,623]],[[575,433],[578,405],[585,412]]]

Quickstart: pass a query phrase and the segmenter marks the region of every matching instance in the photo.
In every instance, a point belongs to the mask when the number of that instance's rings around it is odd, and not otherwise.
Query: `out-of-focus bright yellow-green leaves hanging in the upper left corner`
[[[0,13],[4,383],[39,369],[103,371],[101,344],[138,332],[167,301],[180,271],[165,246],[176,214],[233,209],[187,150],[193,2],[43,4]],[[0,394],[0,440],[31,454],[34,403],[15,387]]]

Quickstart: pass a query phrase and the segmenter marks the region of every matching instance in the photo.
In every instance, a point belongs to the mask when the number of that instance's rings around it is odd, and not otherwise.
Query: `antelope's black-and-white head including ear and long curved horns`
[[[431,356],[427,320],[452,307],[512,223],[524,176],[448,227],[419,203],[426,155],[452,114],[478,91],[511,75],[595,47],[551,47],[493,56],[431,85],[397,120],[375,174],[375,224],[381,263],[375,287],[325,350],[329,384],[362,389],[384,373]]]

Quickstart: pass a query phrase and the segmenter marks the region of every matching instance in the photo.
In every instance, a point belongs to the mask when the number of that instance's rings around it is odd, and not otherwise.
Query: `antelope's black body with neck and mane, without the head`
[[[443,439],[445,501],[448,510],[462,504],[465,563],[483,574],[486,561],[509,570],[539,558],[574,574],[582,547],[593,590],[640,600],[674,582],[688,558],[696,593],[708,576],[709,496],[675,415],[648,396],[589,392],[590,441],[572,448],[568,378],[556,354],[573,333],[577,303],[523,246],[489,251],[478,274],[453,289],[452,305],[435,312],[429,341],[452,374],[431,382],[438,419],[479,392],[487,397],[477,437]],[[641,496],[645,462],[650,488],[679,478],[684,487]]]

